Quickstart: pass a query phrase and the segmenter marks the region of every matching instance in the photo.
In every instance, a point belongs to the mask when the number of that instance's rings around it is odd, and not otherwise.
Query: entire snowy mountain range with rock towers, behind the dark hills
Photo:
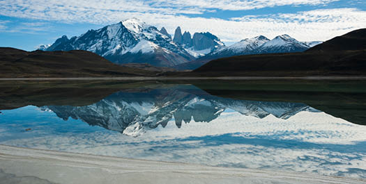
[[[140,19],[127,19],[98,30],[70,37],[63,35],[54,44],[41,45],[43,51],[85,50],[116,64],[147,63],[155,67],[196,69],[209,60],[257,53],[305,51],[320,42],[298,42],[289,35],[273,40],[264,36],[247,38],[229,47],[212,33],[182,34],[178,26],[171,37],[162,27],[148,25]]]

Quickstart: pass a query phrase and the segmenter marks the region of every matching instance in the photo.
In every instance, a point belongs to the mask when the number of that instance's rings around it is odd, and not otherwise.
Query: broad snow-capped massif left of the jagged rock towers
[[[169,67],[193,59],[190,53],[171,40],[165,28],[158,31],[139,19],[127,19],[98,30],[89,30],[79,37],[68,39],[63,36],[46,50],[73,49],[92,51],[119,64],[147,62]]]

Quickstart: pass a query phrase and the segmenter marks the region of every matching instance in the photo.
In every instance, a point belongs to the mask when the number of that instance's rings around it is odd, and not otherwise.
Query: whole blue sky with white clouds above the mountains
[[[0,0],[0,7],[0,47],[27,51],[132,17],[170,34],[177,26],[209,31],[227,44],[282,34],[326,41],[366,28],[365,0]]]

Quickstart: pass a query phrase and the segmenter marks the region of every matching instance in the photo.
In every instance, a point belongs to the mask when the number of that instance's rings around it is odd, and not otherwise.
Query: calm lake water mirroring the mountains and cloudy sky
[[[3,84],[0,144],[365,178],[363,83],[310,85]]]

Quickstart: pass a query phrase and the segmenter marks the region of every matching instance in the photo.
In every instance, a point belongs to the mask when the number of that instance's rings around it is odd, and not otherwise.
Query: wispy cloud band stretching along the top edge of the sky
[[[15,17],[29,17],[40,19],[64,19],[79,22],[83,19],[74,19],[75,15],[87,16],[100,15],[108,12],[149,12],[162,15],[201,14],[213,9],[219,10],[252,10],[275,6],[319,6],[338,0],[2,0],[1,15]],[[63,15],[63,16],[59,16]],[[104,17],[104,16],[103,16]],[[89,20],[90,21],[90,20]]]

